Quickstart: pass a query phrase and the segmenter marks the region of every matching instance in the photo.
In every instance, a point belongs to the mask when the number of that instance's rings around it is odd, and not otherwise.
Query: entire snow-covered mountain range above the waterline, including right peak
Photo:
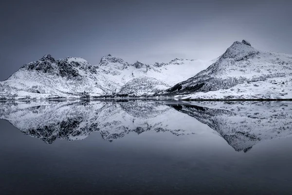
[[[205,66],[209,66],[203,70]],[[0,99],[164,96],[181,99],[292,99],[292,55],[234,42],[218,59],[129,64],[105,56],[98,65],[50,55],[0,81]]]

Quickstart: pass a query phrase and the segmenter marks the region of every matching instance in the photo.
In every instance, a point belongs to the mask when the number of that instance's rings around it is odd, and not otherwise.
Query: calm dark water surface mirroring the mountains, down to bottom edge
[[[0,191],[292,194],[292,102],[0,102]]]

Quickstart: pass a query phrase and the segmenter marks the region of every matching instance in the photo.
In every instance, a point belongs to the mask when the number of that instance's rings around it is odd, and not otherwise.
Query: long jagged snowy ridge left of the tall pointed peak
[[[98,65],[91,65],[82,58],[56,60],[45,55],[0,81],[0,99],[81,98],[125,93],[151,95],[193,76],[208,63],[174,59],[169,63],[137,61],[129,64],[108,55]]]

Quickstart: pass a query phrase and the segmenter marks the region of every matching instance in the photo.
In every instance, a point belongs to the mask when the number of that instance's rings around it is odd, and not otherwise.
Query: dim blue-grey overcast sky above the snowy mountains
[[[0,80],[30,61],[214,59],[234,41],[292,54],[291,0],[2,0]]]

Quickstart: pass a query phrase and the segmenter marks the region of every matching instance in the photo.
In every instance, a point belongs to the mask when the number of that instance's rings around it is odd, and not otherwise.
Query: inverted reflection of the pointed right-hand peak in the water
[[[261,140],[292,135],[292,102],[233,101],[196,104],[173,107],[207,124],[236,151],[248,152]]]

